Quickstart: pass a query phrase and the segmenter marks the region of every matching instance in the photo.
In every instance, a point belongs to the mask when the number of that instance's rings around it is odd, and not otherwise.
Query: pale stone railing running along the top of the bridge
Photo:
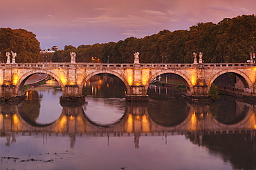
[[[144,67],[144,68],[188,68],[188,67],[252,67],[250,63],[203,63],[203,64],[192,64],[192,63],[140,63],[135,65],[134,63],[1,63],[0,68],[93,68],[93,69],[107,69],[107,68],[118,68],[118,67]]]

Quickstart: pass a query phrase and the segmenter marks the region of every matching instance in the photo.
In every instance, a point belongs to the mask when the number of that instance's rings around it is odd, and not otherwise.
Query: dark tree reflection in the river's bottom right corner
[[[198,138],[199,136],[197,136]],[[199,139],[189,136],[199,145]],[[210,154],[219,155],[224,162],[230,162],[233,169],[256,169],[256,137],[246,134],[219,134],[203,136],[202,145],[208,147]]]

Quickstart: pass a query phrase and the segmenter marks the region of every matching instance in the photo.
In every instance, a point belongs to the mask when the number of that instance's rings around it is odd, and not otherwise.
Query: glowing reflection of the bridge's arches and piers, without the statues
[[[200,114],[197,113],[194,107],[190,107],[190,114],[179,125],[172,127],[166,127],[164,125],[158,125],[152,120],[147,113],[147,106],[128,106],[126,113],[116,123],[111,125],[98,125],[93,123],[89,118],[84,115],[84,109],[79,107],[63,107],[60,118],[55,122],[48,125],[31,125],[19,114],[17,106],[13,107],[13,115],[5,114],[1,111],[2,118],[0,120],[0,131],[50,131],[54,133],[68,133],[70,131],[77,131],[78,133],[133,133],[135,131],[141,131],[143,125],[148,128],[145,132],[157,132],[157,131],[228,131],[230,129],[255,129],[256,128],[256,116],[253,108],[246,114],[246,117],[239,123],[233,125],[225,125],[219,123],[212,114]],[[144,109],[143,109],[144,108]],[[141,112],[143,111],[143,113]],[[15,116],[14,116],[15,115]],[[143,117],[143,115],[145,117]],[[14,116],[10,118],[10,116]],[[144,119],[143,119],[144,118]],[[6,122],[4,123],[6,119]],[[141,122],[140,122],[141,121]],[[136,123],[135,123],[136,122]],[[10,123],[10,124],[9,124]],[[136,127],[138,126],[138,127]]]

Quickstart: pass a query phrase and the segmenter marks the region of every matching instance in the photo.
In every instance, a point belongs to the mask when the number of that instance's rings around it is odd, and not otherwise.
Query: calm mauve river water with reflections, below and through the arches
[[[148,103],[127,103],[104,75],[85,89],[82,105],[60,103],[55,81],[2,104],[0,169],[256,169],[251,103],[192,103],[154,85]]]

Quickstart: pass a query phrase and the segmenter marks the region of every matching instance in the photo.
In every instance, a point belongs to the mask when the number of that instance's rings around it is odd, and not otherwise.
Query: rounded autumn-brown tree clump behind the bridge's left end
[[[40,43],[33,32],[11,28],[0,28],[0,52],[6,62],[6,52],[16,52],[16,63],[37,63],[40,61]]]

